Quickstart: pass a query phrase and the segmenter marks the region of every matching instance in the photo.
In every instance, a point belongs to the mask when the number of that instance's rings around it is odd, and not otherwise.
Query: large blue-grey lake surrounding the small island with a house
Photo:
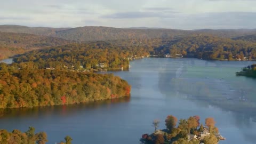
[[[81,105],[7,110],[0,129],[48,134],[48,143],[139,143],[141,134],[151,133],[153,119],[174,115],[213,117],[220,143],[255,143],[256,79],[235,76],[252,61],[205,61],[198,59],[141,59],[129,71],[114,72],[132,85],[131,98]]]

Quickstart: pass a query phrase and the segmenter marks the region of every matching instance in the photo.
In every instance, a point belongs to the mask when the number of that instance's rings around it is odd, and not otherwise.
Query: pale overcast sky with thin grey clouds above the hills
[[[256,0],[3,0],[0,25],[256,28]]]

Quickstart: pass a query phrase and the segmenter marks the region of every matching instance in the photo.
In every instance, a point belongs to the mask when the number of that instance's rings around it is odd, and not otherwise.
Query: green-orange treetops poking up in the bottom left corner
[[[45,144],[47,141],[47,134],[45,132],[35,133],[34,127],[29,127],[26,132],[19,130],[13,130],[12,132],[0,130],[1,144]],[[61,141],[59,144],[71,144],[72,138],[66,136],[65,141]]]

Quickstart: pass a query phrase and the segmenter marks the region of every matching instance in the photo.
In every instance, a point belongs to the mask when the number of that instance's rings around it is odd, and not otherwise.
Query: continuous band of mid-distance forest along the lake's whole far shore
[[[15,62],[34,61],[40,67],[75,66],[79,69],[124,69],[129,60],[157,55],[171,58],[205,60],[254,60],[256,43],[219,38],[211,35],[191,35],[177,38],[123,39],[108,42],[72,43],[34,50],[20,55]]]

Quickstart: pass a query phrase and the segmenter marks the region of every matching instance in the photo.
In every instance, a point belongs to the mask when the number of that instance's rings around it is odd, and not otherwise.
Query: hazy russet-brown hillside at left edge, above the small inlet
[[[0,32],[0,59],[34,49],[71,43],[61,38]]]

